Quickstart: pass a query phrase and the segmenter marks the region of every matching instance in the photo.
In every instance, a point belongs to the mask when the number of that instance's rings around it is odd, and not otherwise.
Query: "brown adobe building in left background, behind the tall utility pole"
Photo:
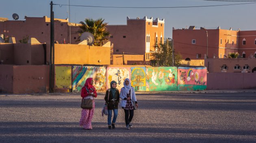
[[[15,37],[16,42],[24,36],[34,37],[40,43],[50,43],[50,18],[26,17],[26,20],[8,20],[0,18],[0,34],[5,37]],[[68,19],[54,18],[54,39],[60,44],[70,43],[69,27],[71,29],[71,44],[77,44],[79,24],[69,23]]]

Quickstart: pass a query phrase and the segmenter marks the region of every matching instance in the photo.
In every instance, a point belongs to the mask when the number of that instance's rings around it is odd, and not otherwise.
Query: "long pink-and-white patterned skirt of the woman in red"
[[[91,127],[91,120],[93,118],[94,109],[95,109],[95,102],[93,101],[93,108],[92,109],[82,109],[81,119],[80,119],[80,126],[84,129],[92,129]]]

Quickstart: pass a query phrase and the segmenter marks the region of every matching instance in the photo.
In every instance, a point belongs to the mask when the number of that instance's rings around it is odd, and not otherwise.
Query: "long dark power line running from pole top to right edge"
[[[172,7],[118,7],[118,6],[85,6],[85,5],[68,5],[68,4],[53,4],[61,6],[82,6],[82,7],[96,7],[96,8],[193,8],[193,7],[210,7],[210,6],[231,6],[231,5],[241,5],[241,4],[255,4],[256,1],[249,3],[240,4],[220,4],[220,5],[208,5],[208,6],[172,6]]]

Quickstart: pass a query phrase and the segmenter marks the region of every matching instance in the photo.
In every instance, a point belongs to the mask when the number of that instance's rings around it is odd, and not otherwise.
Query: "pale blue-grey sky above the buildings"
[[[24,17],[50,17],[51,0],[2,0],[0,17],[13,20],[12,14],[17,13],[19,20]],[[68,0],[53,0],[54,4],[67,4]],[[237,4],[248,2],[217,2],[204,0],[70,0],[71,5],[87,6],[119,6],[119,7],[174,7],[174,6],[206,6],[221,4]],[[54,18],[66,19],[67,6],[54,5]],[[190,25],[206,28],[229,29],[240,28],[256,30],[256,3],[233,6],[213,6],[195,8],[95,8],[70,7],[71,22],[79,23],[85,18],[103,18],[110,25],[126,24],[126,17],[165,19],[165,38],[172,38],[172,27],[185,28]]]

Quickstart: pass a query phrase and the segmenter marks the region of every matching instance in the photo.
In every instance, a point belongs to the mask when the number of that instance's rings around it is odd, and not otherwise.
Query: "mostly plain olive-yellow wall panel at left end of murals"
[[[71,73],[72,67],[69,65],[55,66],[55,86],[54,89],[56,92],[70,92],[71,91]]]

